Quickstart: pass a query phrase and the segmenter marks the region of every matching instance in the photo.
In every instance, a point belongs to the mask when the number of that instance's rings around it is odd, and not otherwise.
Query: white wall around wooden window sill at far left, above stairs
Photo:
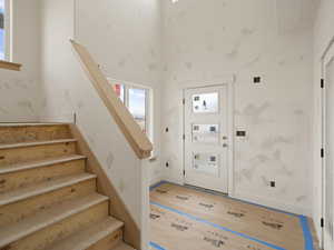
[[[12,61],[22,71],[0,69],[0,122],[38,121],[40,110],[39,0],[12,4]]]

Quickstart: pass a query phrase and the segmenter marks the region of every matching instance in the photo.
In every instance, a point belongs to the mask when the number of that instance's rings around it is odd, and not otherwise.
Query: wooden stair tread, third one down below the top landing
[[[43,181],[38,184],[16,189],[13,191],[4,192],[0,194],[0,206],[17,202],[27,198],[36,197],[46,192],[51,192],[53,190],[65,188],[71,184],[79,183],[81,181],[95,179],[96,174],[91,173],[78,173],[72,176],[67,176],[62,178],[57,178],[50,181]]]

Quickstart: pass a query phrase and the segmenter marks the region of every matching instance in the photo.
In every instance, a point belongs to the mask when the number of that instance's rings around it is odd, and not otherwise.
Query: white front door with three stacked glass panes
[[[228,192],[227,86],[185,90],[185,182]]]

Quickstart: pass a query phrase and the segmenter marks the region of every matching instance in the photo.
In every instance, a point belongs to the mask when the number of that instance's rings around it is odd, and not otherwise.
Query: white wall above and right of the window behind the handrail
[[[160,3],[158,0],[77,0],[76,39],[106,76],[154,91],[151,182],[160,179]]]

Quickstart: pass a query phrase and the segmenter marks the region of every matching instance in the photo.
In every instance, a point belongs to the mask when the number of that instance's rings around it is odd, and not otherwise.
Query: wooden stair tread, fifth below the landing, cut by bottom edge
[[[96,226],[84,229],[61,242],[56,243],[56,246],[51,249],[48,248],[48,250],[86,250],[122,227],[124,222],[108,217],[106,220],[96,223]]]

